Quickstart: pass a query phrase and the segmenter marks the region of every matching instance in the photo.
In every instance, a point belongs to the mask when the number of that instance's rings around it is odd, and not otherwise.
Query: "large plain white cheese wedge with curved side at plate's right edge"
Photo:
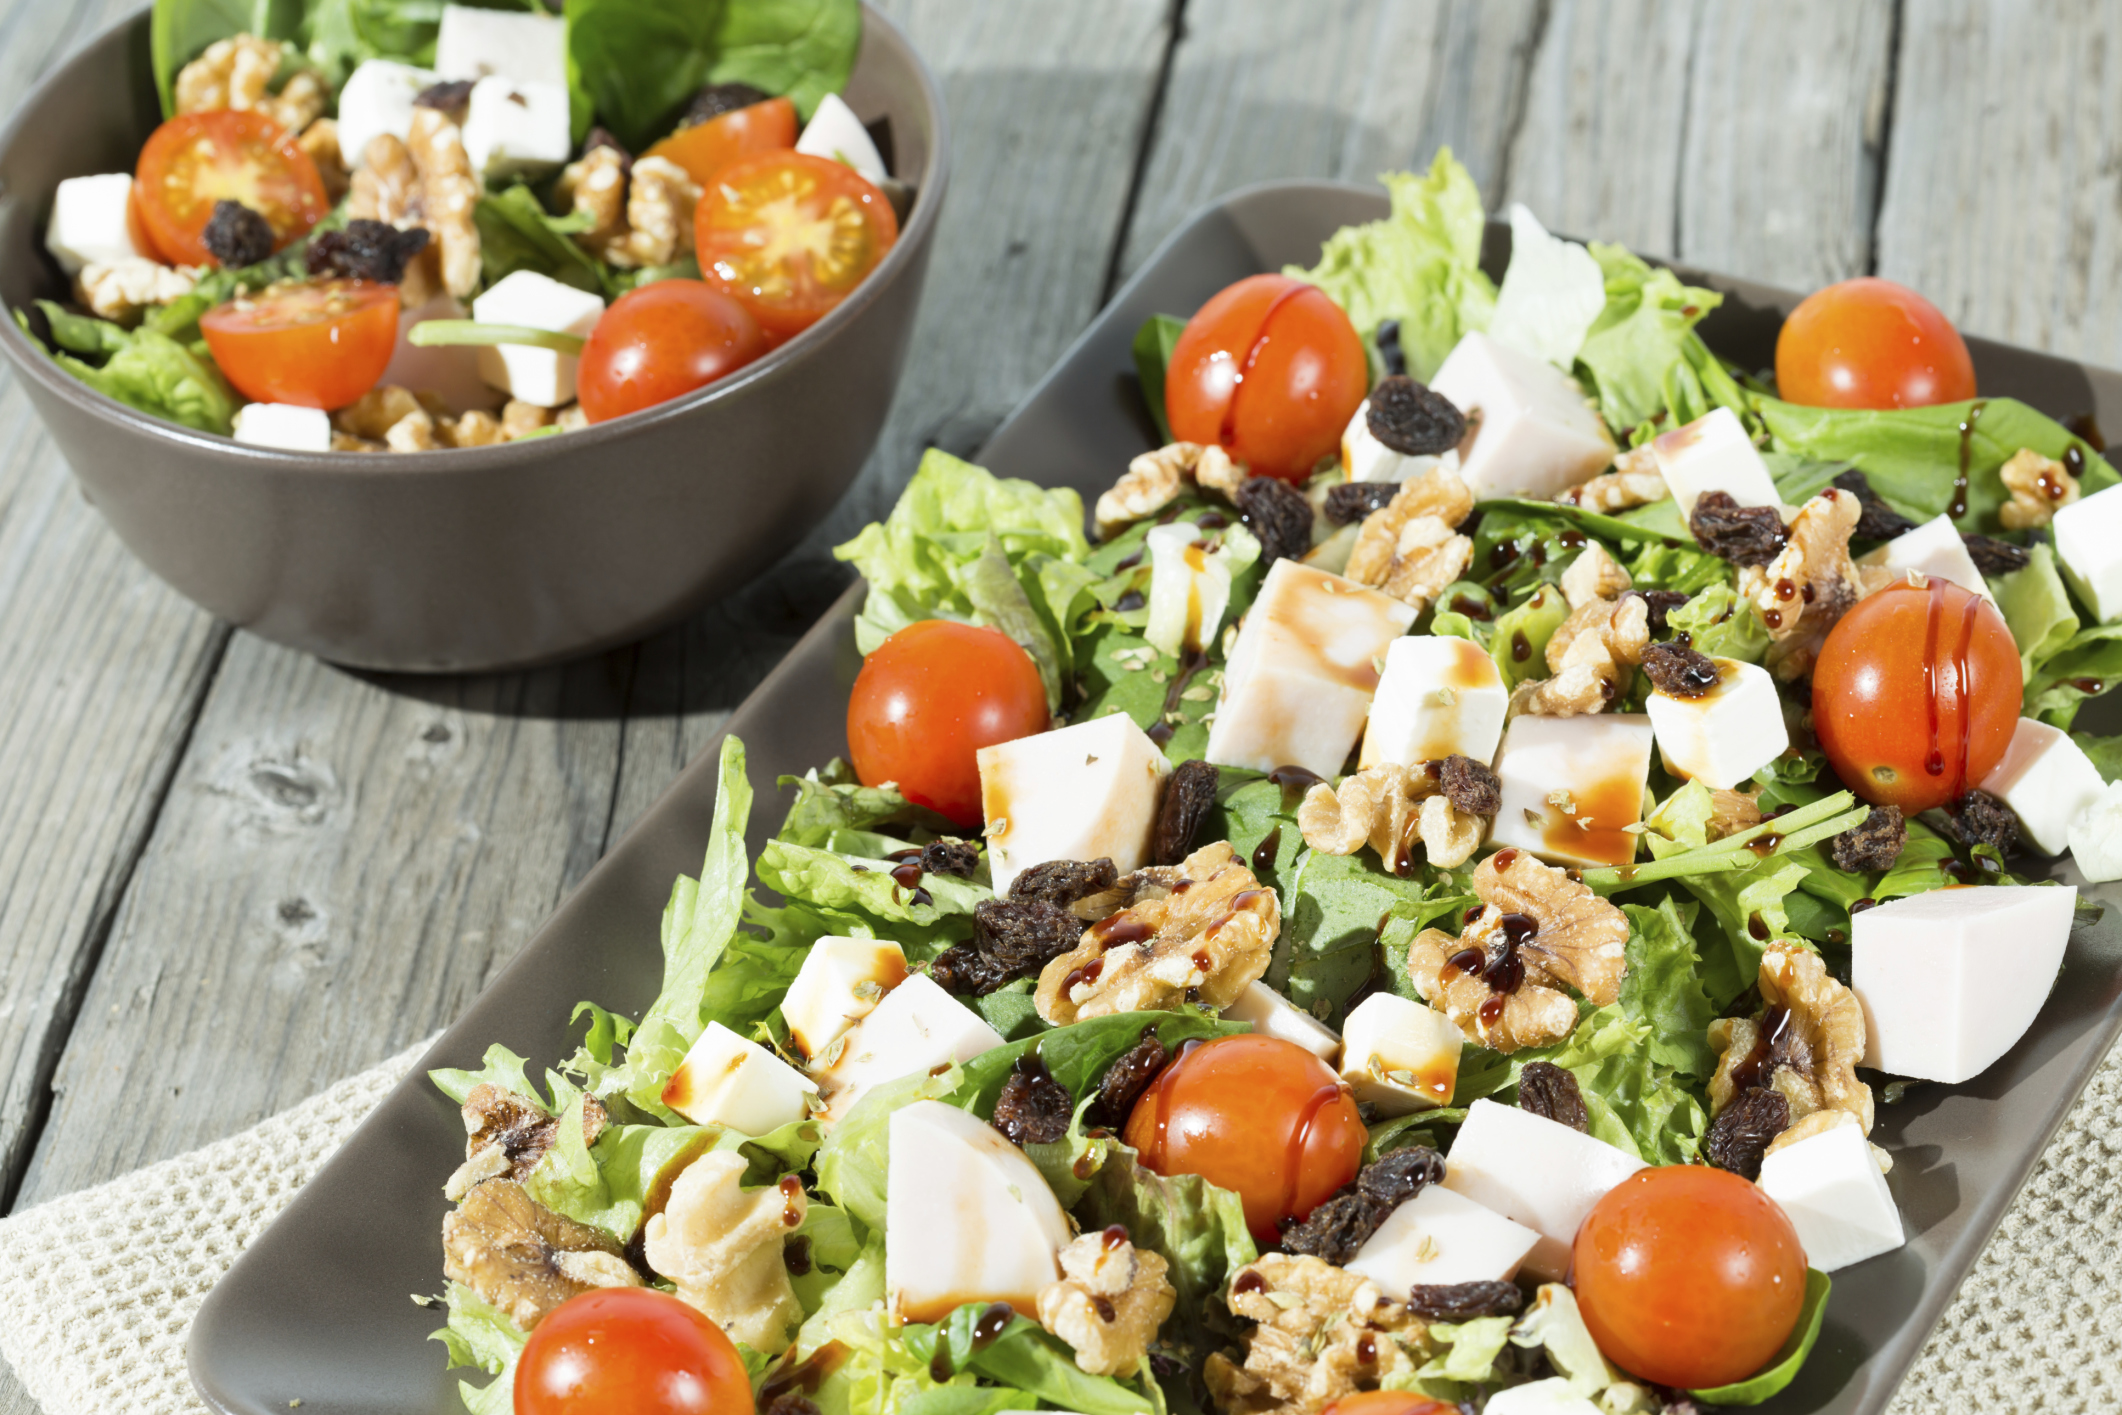
[[[2071,942],[2071,885],[1933,889],[1867,908],[1850,927],[1863,1065],[1963,1082],[2027,1033]]]

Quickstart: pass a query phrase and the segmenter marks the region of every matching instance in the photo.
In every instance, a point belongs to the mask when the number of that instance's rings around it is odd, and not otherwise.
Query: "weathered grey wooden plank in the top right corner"
[[[1878,274],[1961,329],[2122,363],[2122,4],[1908,0]]]

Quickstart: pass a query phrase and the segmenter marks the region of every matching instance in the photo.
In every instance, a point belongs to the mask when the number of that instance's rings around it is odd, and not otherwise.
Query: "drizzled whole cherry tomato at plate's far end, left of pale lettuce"
[[[1326,291],[1250,276],[1186,320],[1165,418],[1176,439],[1220,443],[1256,477],[1303,482],[1341,446],[1369,384],[1362,339]]]

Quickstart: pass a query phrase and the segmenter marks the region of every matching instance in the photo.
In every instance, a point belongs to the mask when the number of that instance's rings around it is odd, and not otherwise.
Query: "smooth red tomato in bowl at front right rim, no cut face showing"
[[[620,295],[590,331],[575,386],[590,422],[705,388],[766,352],[760,322],[700,280],[656,280]]]

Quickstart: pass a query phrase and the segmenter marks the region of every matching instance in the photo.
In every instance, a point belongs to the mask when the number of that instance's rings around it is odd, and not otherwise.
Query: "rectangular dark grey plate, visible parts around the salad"
[[[1273,182],[1205,208],[1127,282],[1059,367],[995,433],[980,462],[1002,475],[1074,486],[1093,499],[1154,431],[1135,386],[1129,339],[1150,314],[1190,314],[1224,284],[1284,263],[1311,263],[1335,229],[1386,214],[1373,187]],[[1485,261],[1500,269],[1507,231],[1490,225]],[[1795,295],[1702,272],[1727,293],[1704,335],[1744,367],[1774,363]],[[1984,395],[2020,397],[2058,418],[2097,414],[2122,426],[2122,375],[1969,339]],[[758,806],[751,849],[779,825],[775,779],[845,751],[855,679],[851,622],[859,586],[834,605],[728,730],[749,749]],[[2086,726],[2116,730],[2116,706]],[[2094,717],[2103,721],[2094,721]],[[429,1082],[431,1067],[475,1067],[492,1042],[537,1067],[573,1052],[569,1012],[596,999],[630,1016],[662,978],[658,921],[677,874],[694,874],[715,806],[711,745],[581,883],[420,1067],[376,1110],[214,1288],[191,1330],[191,1375],[231,1415],[456,1411],[456,1375],[427,1341],[437,1317],[407,1300],[441,1288],[443,1177],[463,1160],[465,1129]],[[2069,876],[2067,878],[2075,878]],[[2109,893],[2109,891],[2103,891]],[[2122,899],[2122,893],[2111,893]],[[2005,944],[1999,944],[2003,950]],[[1768,1411],[1882,1411],[1952,1290],[1997,1228],[2048,1137],[2122,1031],[2122,925],[2071,938],[2063,976],[2027,1037],[1967,1086],[1916,1086],[1880,1107],[1874,1139],[1895,1156],[1893,1194],[1910,1241],[1844,1269],[1819,1347]]]

